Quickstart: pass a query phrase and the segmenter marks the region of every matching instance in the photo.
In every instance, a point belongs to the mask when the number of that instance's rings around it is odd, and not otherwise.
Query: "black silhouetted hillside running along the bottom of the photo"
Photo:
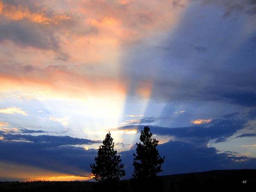
[[[139,182],[135,187],[143,191],[149,186],[157,192],[219,192],[254,191],[256,188],[256,169],[215,170],[208,172],[186,173],[160,176],[157,181]],[[0,192],[92,192],[95,182],[0,182]],[[134,191],[134,180],[121,180],[119,189],[123,192]],[[154,190],[153,190],[154,189]]]

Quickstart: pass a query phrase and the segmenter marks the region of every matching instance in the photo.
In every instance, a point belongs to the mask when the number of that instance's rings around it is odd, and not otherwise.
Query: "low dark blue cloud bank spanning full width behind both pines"
[[[58,140],[58,139],[57,139]],[[67,144],[67,143],[66,143]],[[191,143],[170,141],[158,146],[165,156],[161,175],[200,172],[214,169],[252,169],[255,158],[237,157],[233,153],[218,154],[215,148],[195,147]],[[134,148],[120,153],[125,164],[126,178],[133,172]],[[0,160],[21,163],[43,169],[83,175],[90,172],[97,150],[73,146],[49,146],[49,143],[0,141]]]

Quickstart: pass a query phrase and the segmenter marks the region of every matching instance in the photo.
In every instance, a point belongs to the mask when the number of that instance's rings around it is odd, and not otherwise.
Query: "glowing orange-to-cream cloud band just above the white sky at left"
[[[18,72],[17,72],[18,73]],[[87,98],[88,96],[124,96],[127,84],[115,78],[99,77],[98,79],[77,75],[58,69],[44,69],[26,73],[19,71],[19,76],[1,75],[2,93],[19,91],[33,99],[50,97]]]

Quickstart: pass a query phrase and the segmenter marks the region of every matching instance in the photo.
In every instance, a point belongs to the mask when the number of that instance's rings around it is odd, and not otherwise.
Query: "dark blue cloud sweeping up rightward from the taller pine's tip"
[[[249,114],[255,113],[250,111]],[[189,143],[206,144],[211,139],[216,139],[216,143],[226,141],[227,137],[232,136],[236,131],[244,129],[247,125],[248,113],[240,115],[232,113],[222,116],[219,119],[213,119],[212,122],[204,125],[193,125],[189,127],[166,128],[150,125],[150,129],[154,134],[175,136],[177,140],[185,140]],[[144,125],[127,125],[119,127],[119,129],[137,129],[143,130]],[[245,134],[247,135],[247,134]],[[255,134],[250,134],[253,137]]]

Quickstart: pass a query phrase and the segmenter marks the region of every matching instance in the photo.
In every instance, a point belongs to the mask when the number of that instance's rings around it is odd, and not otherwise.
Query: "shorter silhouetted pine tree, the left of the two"
[[[116,155],[117,151],[114,150],[113,138],[110,132],[102,143],[103,145],[99,147],[98,157],[95,157],[95,163],[90,164],[91,171],[96,181],[118,181],[120,177],[125,176],[125,171],[120,155]]]

